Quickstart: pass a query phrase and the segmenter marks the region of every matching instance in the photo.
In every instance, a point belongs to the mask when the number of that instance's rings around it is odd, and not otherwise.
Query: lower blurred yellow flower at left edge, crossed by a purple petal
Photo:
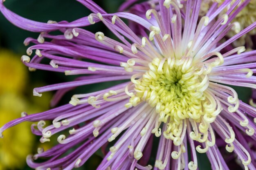
[[[26,105],[25,99],[16,94],[0,95],[0,126],[20,117]],[[4,138],[0,140],[0,170],[21,168],[25,165],[25,158],[34,145],[30,125],[31,123],[25,122],[4,132]]]

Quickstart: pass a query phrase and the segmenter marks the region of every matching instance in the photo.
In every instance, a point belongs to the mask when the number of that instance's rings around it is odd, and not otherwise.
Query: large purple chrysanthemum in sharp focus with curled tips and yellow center
[[[98,170],[150,170],[146,166],[152,150],[153,134],[159,137],[154,169],[196,170],[196,152],[207,153],[213,170],[228,170],[216,137],[235,152],[245,169],[256,170],[255,155],[247,141],[256,140],[256,109],[238,99],[228,85],[256,88],[256,51],[245,52],[241,46],[223,52],[226,46],[256,27],[253,23],[240,31],[231,23],[249,0],[237,0],[222,17],[216,17],[230,5],[213,4],[198,21],[201,1],[159,0],[159,13],[150,9],[146,18],[155,18],[157,26],[131,13],[108,14],[92,0],[77,0],[93,13],[74,22],[34,22],[12,13],[0,3],[0,11],[16,26],[42,32],[33,42],[22,62],[31,69],[86,75],[72,82],[34,89],[34,95],[57,93],[52,104],[77,86],[127,80],[93,93],[74,95],[70,104],[42,113],[27,115],[4,125],[0,132],[22,121],[39,121],[32,132],[49,141],[58,132],[60,144],[29,156],[27,163],[37,170],[71,170],[83,165],[102,146],[112,142]],[[183,7],[182,7],[183,6]],[[185,9],[185,13],[180,8]],[[137,22],[150,33],[139,38],[121,20]],[[103,22],[119,41],[102,32],[95,35],[78,27]],[[236,35],[219,41],[231,30]],[[51,35],[59,30],[63,35]],[[52,41],[45,42],[45,39]],[[50,65],[41,64],[50,59]],[[88,60],[83,60],[88,59]],[[43,128],[44,120],[53,124]],[[115,143],[114,143],[115,142]],[[75,148],[72,152],[68,152]],[[189,152],[190,150],[190,152]],[[65,155],[65,156],[63,156]],[[36,163],[38,158],[49,158]]]

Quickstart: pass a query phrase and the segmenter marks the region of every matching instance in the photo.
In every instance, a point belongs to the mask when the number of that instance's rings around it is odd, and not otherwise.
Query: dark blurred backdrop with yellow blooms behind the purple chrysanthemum
[[[124,0],[94,0],[109,13],[117,11]],[[40,22],[48,20],[69,22],[90,14],[82,4],[75,0],[7,0],[5,6],[15,13]],[[95,24],[86,28],[92,32],[102,31],[110,34],[103,24]],[[0,14],[0,126],[20,117],[20,113],[36,113],[49,109],[49,102],[53,93],[44,93],[43,97],[34,97],[34,87],[67,82],[74,76],[65,76],[62,73],[49,71],[29,72],[20,62],[20,56],[26,55],[27,47],[23,41],[27,37],[37,38],[39,33],[31,33],[13,26]],[[112,85],[111,83],[104,84]],[[61,103],[67,103],[74,93],[86,93],[104,88],[102,85],[88,86],[87,91],[79,88],[68,93]],[[236,88],[240,99],[247,102],[250,89]],[[15,106],[15,107],[13,107]],[[31,123],[23,123],[7,130],[4,139],[0,139],[0,170],[30,170],[25,163],[28,154],[36,152],[38,147],[50,148],[56,141],[40,144],[39,138],[30,132]],[[157,146],[153,146],[156,150]],[[101,154],[97,153],[90,158],[81,170],[94,170],[101,161]],[[210,170],[207,157],[199,154],[200,170]]]

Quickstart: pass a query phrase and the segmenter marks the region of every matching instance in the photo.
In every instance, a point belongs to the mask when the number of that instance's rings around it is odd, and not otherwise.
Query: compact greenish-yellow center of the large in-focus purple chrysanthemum
[[[174,61],[171,61],[174,60]],[[209,81],[204,82],[197,74],[191,74],[194,67],[182,64],[184,60],[170,61],[155,58],[150,64],[140,83],[135,84],[136,96],[156,107],[160,113],[159,121],[180,122],[180,119],[199,119],[202,112],[204,90]]]

